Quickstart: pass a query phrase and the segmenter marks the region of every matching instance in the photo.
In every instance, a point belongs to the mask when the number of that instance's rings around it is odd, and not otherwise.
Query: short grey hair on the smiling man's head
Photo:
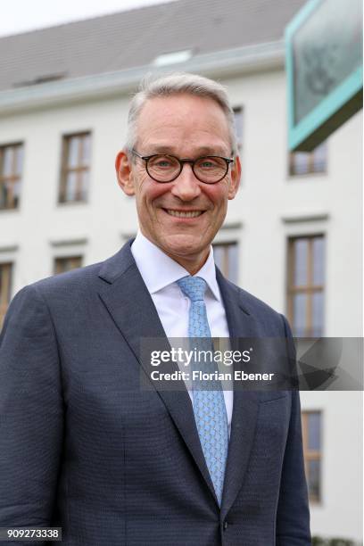
[[[231,149],[234,155],[236,155],[234,112],[228,100],[226,88],[213,79],[186,72],[174,72],[157,79],[153,79],[153,76],[148,75],[141,81],[139,90],[134,95],[128,112],[126,144],[128,151],[132,150],[136,145],[137,120],[145,102],[157,96],[170,96],[182,93],[211,98],[219,104],[226,115]]]

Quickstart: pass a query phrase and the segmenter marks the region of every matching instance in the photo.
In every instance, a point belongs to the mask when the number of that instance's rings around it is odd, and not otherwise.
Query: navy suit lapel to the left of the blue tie
[[[125,338],[136,360],[150,377],[150,363],[140,351],[140,340],[145,337],[159,338],[160,350],[170,351],[170,343],[165,335],[161,320],[155,309],[143,278],[136,267],[130,251],[130,242],[107,261],[103,262],[99,277],[105,281],[99,291],[104,305],[109,311],[120,333]],[[172,371],[178,370],[177,364]],[[178,431],[184,439],[188,450],[199,467],[215,501],[216,494],[211,482],[211,476],[206,466],[194,421],[194,410],[185,383],[181,380],[178,391],[160,391],[157,381],[151,382],[161,396]]]

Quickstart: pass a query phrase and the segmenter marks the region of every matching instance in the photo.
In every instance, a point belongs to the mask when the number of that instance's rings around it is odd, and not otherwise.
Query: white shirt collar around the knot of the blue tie
[[[179,278],[189,275],[188,271],[167,256],[161,249],[147,239],[139,230],[136,239],[131,245],[131,253],[136,261],[137,269],[145,282],[150,294],[155,294],[162,288],[178,281]],[[215,262],[213,250],[203,267],[196,273],[197,277],[203,277],[209,286],[212,295],[221,300],[219,285],[216,280]]]

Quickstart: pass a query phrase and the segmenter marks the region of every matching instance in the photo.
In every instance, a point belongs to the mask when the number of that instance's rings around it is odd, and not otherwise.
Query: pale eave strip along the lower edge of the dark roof
[[[196,55],[186,62],[161,68],[154,68],[149,64],[82,78],[61,79],[34,87],[5,89],[0,91],[0,115],[126,94],[137,86],[146,73],[152,71],[163,74],[182,70],[220,79],[249,71],[281,69],[284,68],[284,62],[285,42],[281,39]]]

